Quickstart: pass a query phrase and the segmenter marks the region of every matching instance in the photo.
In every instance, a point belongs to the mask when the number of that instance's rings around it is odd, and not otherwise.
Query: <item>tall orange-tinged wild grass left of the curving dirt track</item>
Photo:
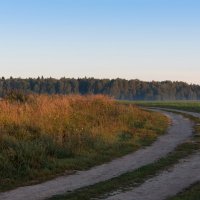
[[[0,190],[34,184],[125,155],[166,130],[158,113],[105,96],[0,101]]]

